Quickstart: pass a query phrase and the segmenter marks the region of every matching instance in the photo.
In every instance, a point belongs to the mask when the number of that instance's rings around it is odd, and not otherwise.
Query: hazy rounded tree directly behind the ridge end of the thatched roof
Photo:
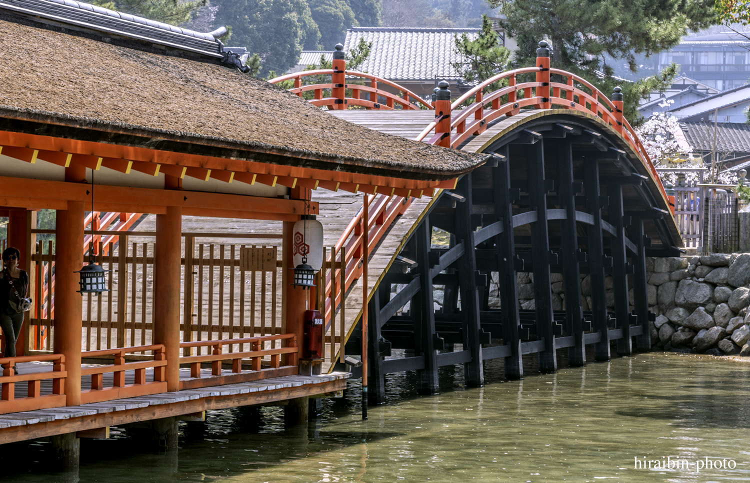
[[[305,0],[215,0],[214,5],[219,7],[216,25],[232,26],[232,43],[259,55],[261,74],[293,67],[308,37],[317,39],[317,30],[305,21],[310,17]]]

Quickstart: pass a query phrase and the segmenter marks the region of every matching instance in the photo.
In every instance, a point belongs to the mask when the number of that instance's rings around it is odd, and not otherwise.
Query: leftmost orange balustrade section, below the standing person
[[[22,362],[53,362],[52,371],[15,374],[13,366]],[[2,386],[0,414],[65,406],[65,377],[68,377],[68,372],[65,371],[65,356],[62,354],[4,357],[0,359],[0,365],[3,367],[2,376],[0,376],[0,386]],[[52,394],[42,395],[41,382],[50,379],[52,380]],[[17,399],[15,397],[16,383],[24,381],[28,383],[26,398]]]

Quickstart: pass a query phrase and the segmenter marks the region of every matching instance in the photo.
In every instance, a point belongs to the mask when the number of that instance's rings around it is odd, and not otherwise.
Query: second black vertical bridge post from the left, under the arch
[[[419,293],[413,298],[414,310],[414,345],[415,353],[425,358],[425,368],[417,371],[418,390],[422,394],[437,394],[437,349],[435,348],[435,302],[432,286],[433,269],[430,268],[430,246],[432,229],[430,215],[422,219],[412,238],[415,261],[419,263],[416,272],[419,273]],[[453,249],[452,249],[453,250]],[[444,255],[447,256],[448,254]],[[456,257],[458,258],[458,257]],[[438,270],[436,273],[441,272]]]

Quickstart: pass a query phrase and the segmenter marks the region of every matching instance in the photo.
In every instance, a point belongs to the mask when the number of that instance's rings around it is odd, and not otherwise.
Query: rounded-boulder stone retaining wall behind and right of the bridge
[[[646,260],[649,310],[654,347],[717,356],[750,356],[750,254],[711,254],[704,257]],[[631,277],[631,276],[630,276]],[[554,310],[565,308],[562,275],[552,274]],[[630,284],[631,286],[631,281]],[[581,276],[583,310],[590,310],[591,282]],[[606,278],[607,308],[614,308],[612,278]],[[497,273],[490,283],[490,308],[499,308]],[[436,292],[436,308],[442,297]],[[534,305],[533,275],[518,274],[518,297],[523,309]],[[633,291],[630,291],[633,304]],[[632,310],[632,307],[631,307]]]

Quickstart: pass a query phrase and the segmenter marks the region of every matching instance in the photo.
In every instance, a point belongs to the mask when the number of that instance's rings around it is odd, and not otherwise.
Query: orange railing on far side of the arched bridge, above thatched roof
[[[406,89],[404,86],[399,86],[397,83],[393,83],[390,80],[383,79],[382,77],[377,77],[372,74],[366,74],[365,72],[344,71],[343,74],[344,77],[349,77],[350,79],[352,77],[368,79],[370,80],[370,86],[346,83],[341,86],[335,83],[312,84],[309,86],[302,85],[302,79],[304,77],[324,75],[334,76],[335,74],[342,74],[342,72],[335,69],[302,71],[296,72],[294,74],[287,74],[285,76],[276,77],[275,79],[269,80],[269,83],[278,84],[284,82],[285,80],[294,80],[294,87],[289,90],[290,92],[302,97],[302,92],[313,91],[314,98],[311,99],[311,104],[319,107],[328,106],[329,110],[347,109],[347,107],[349,106],[361,106],[365,107],[368,110],[393,110],[395,109],[395,104],[401,105],[401,107],[405,110],[435,109],[430,103],[420,98],[419,95],[416,95],[409,89]],[[378,89],[378,83],[392,87],[394,89],[398,89],[398,91],[402,93],[402,97],[399,97],[392,92]],[[351,89],[351,97],[347,98],[346,95],[335,97],[333,93],[336,89],[341,89],[341,87],[343,87],[344,89]],[[332,92],[331,97],[323,98],[324,90],[329,90],[330,92]],[[361,92],[369,93],[369,99],[360,97]],[[378,102],[378,97],[385,98],[386,104],[383,105],[382,103]],[[410,101],[410,99],[413,99],[415,102]]]

